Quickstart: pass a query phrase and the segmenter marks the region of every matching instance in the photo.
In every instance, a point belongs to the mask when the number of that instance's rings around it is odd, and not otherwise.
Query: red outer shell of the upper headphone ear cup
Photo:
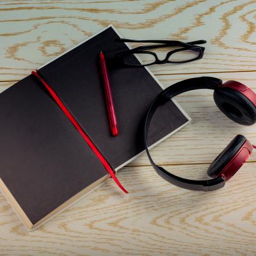
[[[242,93],[256,107],[256,93],[245,84],[230,80],[221,84],[220,87],[228,87],[237,90],[237,92]]]

